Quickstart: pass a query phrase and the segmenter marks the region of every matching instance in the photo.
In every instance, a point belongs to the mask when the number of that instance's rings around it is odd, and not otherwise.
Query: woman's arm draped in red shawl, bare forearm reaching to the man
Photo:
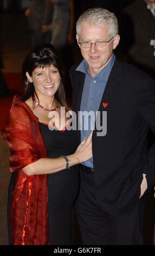
[[[23,170],[27,175],[49,174],[66,168],[63,158],[48,159],[47,151],[40,134],[38,120],[27,104],[17,96],[14,97],[2,138],[10,149],[10,171]],[[35,127],[35,129],[34,129]],[[68,156],[69,166],[85,162],[92,157],[92,133]],[[68,142],[69,143],[69,142]],[[40,150],[41,149],[41,150]]]

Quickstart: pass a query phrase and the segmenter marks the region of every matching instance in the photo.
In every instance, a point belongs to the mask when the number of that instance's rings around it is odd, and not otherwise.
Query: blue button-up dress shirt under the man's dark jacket
[[[78,68],[76,68],[76,70],[86,74],[80,105],[81,141],[83,141],[84,137],[87,139],[88,135],[94,129],[96,111],[99,110],[102,95],[104,94],[114,61],[115,56],[113,54],[110,62],[94,77],[89,75],[88,64],[85,59],[83,59]],[[83,164],[93,168],[93,158]]]

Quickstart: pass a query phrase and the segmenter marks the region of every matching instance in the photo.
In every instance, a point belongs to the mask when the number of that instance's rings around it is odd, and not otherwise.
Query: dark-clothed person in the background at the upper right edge
[[[155,0],[136,0],[119,19],[126,60],[155,78]]]

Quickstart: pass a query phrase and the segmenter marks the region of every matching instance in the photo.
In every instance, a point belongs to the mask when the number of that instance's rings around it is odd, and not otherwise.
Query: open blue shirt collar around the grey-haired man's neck
[[[96,79],[98,77],[101,77],[104,80],[108,80],[109,74],[111,72],[112,66],[114,64],[115,61],[115,55],[113,53],[112,58],[110,60],[110,62],[105,66],[104,69],[102,69],[99,74],[97,74],[96,76],[92,77],[91,75],[89,75],[88,73],[88,64],[86,62],[85,59],[82,60],[82,62],[80,63],[80,65],[78,66],[78,68],[76,68],[77,71],[83,72],[86,75],[90,76],[93,79]]]

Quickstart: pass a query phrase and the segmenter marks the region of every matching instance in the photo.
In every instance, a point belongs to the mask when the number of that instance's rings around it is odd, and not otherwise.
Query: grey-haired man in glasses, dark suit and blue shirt
[[[146,148],[148,125],[155,131],[155,83],[115,57],[118,21],[108,10],[87,10],[76,32],[83,61],[70,69],[70,78],[73,111],[77,116],[81,111],[79,140],[95,121],[93,159],[80,165],[82,243],[141,245],[144,194],[155,181],[155,146],[149,154]],[[98,113],[88,118],[88,130],[80,114],[84,111]]]

